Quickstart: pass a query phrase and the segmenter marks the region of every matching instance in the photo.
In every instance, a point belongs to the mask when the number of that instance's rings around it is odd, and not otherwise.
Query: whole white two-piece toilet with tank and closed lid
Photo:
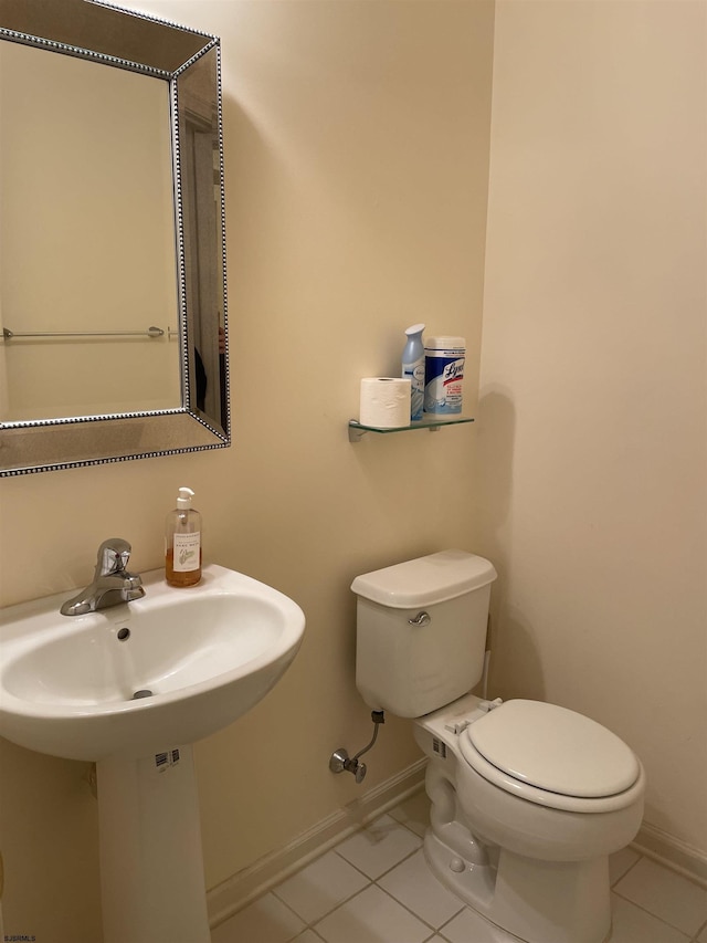
[[[526,943],[602,943],[609,856],[640,828],[645,774],[582,714],[471,693],[494,579],[488,560],[453,549],[357,576],[356,683],[372,710],[414,719],[437,878]]]

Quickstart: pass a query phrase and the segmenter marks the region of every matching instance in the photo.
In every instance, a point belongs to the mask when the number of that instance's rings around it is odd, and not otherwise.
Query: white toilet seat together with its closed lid
[[[540,701],[507,701],[460,736],[464,759],[499,788],[538,805],[610,811],[643,776],[634,753],[589,717]]]

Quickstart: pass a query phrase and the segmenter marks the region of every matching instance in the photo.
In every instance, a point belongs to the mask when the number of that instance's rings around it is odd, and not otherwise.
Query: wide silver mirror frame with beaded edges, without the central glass
[[[60,7],[61,10],[57,9]],[[39,34],[36,23],[40,22],[42,32],[49,35]],[[128,69],[163,78],[169,83],[182,405],[177,409],[159,411],[0,423],[0,476],[226,448],[231,444],[231,417],[219,38],[105,3],[103,0],[62,0],[61,4],[57,0],[0,0],[1,40]],[[139,51],[141,49],[148,52],[148,55],[144,55]],[[196,282],[199,273],[196,265],[189,264],[190,260],[186,258],[184,230],[189,222],[189,207],[182,198],[179,148],[182,133],[179,80],[209,53],[212,54],[215,69],[215,101],[212,105],[218,127],[219,160],[218,170],[214,167],[213,184],[219,195],[217,248],[220,265],[209,316],[218,318],[219,311],[222,310],[225,333],[223,370],[220,378],[220,423],[199,410],[194,402],[194,346],[189,331],[187,298],[190,296],[190,280]],[[141,59],[148,61],[140,61]],[[191,261],[193,263],[193,260]]]

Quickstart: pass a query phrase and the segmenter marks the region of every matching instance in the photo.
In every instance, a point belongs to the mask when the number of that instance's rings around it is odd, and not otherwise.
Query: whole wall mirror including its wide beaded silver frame
[[[0,475],[230,444],[219,54],[0,0]]]

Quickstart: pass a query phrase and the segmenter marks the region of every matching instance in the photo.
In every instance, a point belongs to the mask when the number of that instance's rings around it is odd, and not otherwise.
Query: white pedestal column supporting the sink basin
[[[209,943],[192,747],[96,769],[104,943]]]

